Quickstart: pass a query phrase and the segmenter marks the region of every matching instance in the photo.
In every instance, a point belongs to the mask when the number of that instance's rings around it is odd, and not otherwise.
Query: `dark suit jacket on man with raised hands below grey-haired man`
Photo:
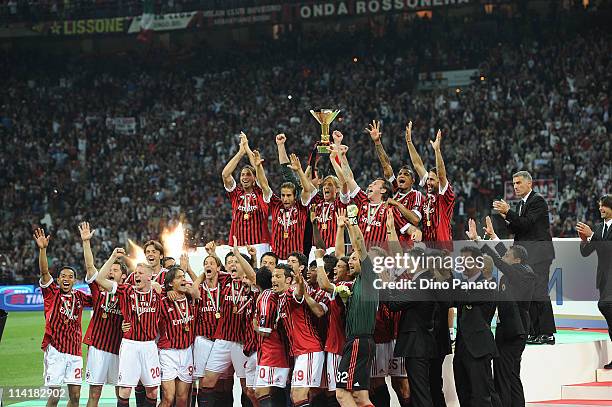
[[[526,264],[508,264],[502,260],[506,246],[498,243],[493,250],[483,246],[482,252],[493,258],[495,266],[504,274],[499,280],[497,315],[499,322],[495,329],[495,341],[512,341],[526,337],[531,323],[529,306],[535,290],[536,276]]]

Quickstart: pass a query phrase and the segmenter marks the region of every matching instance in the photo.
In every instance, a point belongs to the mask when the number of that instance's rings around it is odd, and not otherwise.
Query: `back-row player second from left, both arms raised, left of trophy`
[[[317,193],[316,188],[308,179],[300,160],[295,154],[291,154],[291,169],[296,171],[302,183],[300,200],[296,199],[296,188],[291,182],[281,185],[281,196],[272,193],[263,168],[263,159],[259,152],[253,152],[253,164],[257,174],[257,182],[263,190],[266,203],[270,204],[272,217],[272,251],[280,259],[286,260],[291,252],[304,250],[304,234],[306,220],[308,218],[308,205],[312,197]]]

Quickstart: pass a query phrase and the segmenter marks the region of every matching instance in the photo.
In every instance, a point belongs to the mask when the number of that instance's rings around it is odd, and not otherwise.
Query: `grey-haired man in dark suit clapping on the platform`
[[[557,332],[552,303],[548,295],[550,265],[555,258],[555,249],[550,234],[548,204],[544,197],[532,190],[532,178],[527,171],[512,176],[514,193],[521,198],[516,210],[501,200],[493,202],[514,234],[514,243],[523,246],[528,253],[528,264],[536,275],[533,301],[529,309],[531,318],[528,343],[554,345]]]

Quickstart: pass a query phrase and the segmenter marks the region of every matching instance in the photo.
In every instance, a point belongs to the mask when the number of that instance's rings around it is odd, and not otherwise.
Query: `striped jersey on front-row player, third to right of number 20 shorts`
[[[245,309],[252,302],[249,291],[248,285],[231,278],[221,286],[221,318],[213,339],[244,343]]]

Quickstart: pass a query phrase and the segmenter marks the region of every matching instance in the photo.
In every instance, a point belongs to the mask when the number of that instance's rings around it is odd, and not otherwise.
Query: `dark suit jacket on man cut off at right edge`
[[[600,301],[612,301],[612,227],[602,237],[604,224],[598,223],[593,228],[590,242],[580,242],[580,254],[583,257],[597,253],[596,287]]]

